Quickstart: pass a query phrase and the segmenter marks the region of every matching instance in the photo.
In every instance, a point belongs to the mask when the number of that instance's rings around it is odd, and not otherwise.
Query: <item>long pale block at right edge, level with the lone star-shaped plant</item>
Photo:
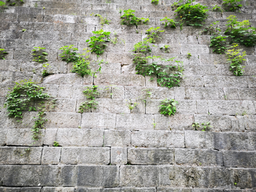
[[[208,102],[210,114],[235,115],[235,114],[255,114],[255,107],[252,101],[211,101]]]

